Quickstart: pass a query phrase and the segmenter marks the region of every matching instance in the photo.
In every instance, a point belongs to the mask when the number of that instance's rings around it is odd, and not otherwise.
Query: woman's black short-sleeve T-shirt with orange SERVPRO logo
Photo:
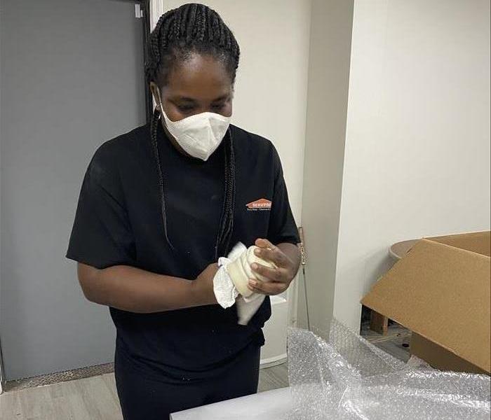
[[[297,244],[297,227],[278,153],[271,141],[231,125],[236,199],[231,244]],[[83,177],[66,257],[97,268],[131,265],[195,279],[214,261],[224,200],[224,142],[203,162],[179,153],[161,124],[157,143],[165,186],[168,239],[149,125],[106,141]],[[267,297],[248,325],[235,305],[137,314],[110,307],[116,349],[147,374],[192,379],[219,370],[250,342],[264,344]]]

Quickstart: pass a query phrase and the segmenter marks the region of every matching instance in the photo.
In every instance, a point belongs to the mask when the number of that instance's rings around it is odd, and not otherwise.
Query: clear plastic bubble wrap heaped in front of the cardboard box
[[[487,375],[403,363],[338,321],[328,336],[288,329],[288,420],[490,419]]]

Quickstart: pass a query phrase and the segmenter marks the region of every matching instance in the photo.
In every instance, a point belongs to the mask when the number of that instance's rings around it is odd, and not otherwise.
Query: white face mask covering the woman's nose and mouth
[[[166,121],[167,130],[173,135],[177,144],[194,158],[208,160],[220,146],[230,125],[231,117],[224,117],[213,112],[203,112],[171,121],[160,105],[161,114]]]

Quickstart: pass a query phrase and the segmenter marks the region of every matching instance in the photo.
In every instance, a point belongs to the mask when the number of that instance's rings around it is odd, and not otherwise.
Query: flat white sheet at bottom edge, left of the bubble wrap
[[[292,410],[290,388],[246,395],[170,414],[171,420],[283,420]]]

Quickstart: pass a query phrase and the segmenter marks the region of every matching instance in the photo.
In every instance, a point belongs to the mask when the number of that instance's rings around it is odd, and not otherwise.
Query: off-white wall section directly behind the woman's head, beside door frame
[[[163,1],[163,10],[188,1]],[[273,141],[295,221],[302,216],[310,0],[209,0],[241,47],[235,125]],[[157,8],[156,8],[157,9]]]

